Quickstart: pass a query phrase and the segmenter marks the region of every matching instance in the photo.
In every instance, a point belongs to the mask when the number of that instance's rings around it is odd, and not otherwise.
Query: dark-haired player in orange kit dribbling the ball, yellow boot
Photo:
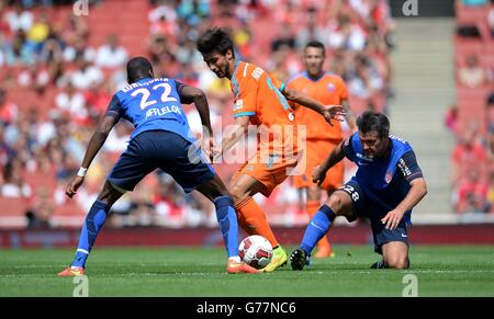
[[[228,191],[235,203],[238,224],[249,235],[260,235],[273,247],[271,263],[263,269],[272,272],[287,264],[287,253],[277,241],[265,213],[252,200],[257,193],[269,196],[297,163],[296,122],[287,99],[319,112],[326,121],[340,121],[344,109],[322,103],[287,89],[256,65],[235,58],[231,36],[222,29],[210,29],[198,39],[198,49],[207,67],[218,78],[231,80],[235,94],[235,130],[223,138],[220,155],[235,145],[248,130],[258,128],[258,148],[232,178]]]

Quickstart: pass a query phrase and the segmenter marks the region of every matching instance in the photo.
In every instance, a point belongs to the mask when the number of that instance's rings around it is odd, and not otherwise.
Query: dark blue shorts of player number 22
[[[201,150],[192,143],[172,132],[146,130],[131,140],[108,181],[125,191],[133,191],[155,169],[170,174],[187,193],[215,175],[213,168],[202,159]]]

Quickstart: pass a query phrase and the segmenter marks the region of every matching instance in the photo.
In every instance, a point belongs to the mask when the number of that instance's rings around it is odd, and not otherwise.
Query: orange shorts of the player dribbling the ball
[[[232,180],[235,180],[239,174],[252,176],[265,185],[265,190],[260,193],[268,197],[276,186],[287,180],[295,167],[295,158],[280,160],[272,164],[266,164],[258,161],[248,161],[237,172],[235,172]]]

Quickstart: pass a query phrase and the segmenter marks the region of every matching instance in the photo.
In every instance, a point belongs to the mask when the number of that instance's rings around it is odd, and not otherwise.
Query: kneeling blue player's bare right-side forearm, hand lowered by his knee
[[[427,194],[427,185],[423,178],[413,180],[409,185],[411,189],[405,198],[403,198],[396,208],[381,219],[382,224],[386,225],[386,229],[395,229],[402,220],[403,215],[405,215],[405,212],[415,207]]]

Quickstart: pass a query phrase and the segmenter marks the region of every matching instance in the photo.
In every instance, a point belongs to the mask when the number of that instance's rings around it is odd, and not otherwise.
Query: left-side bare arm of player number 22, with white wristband
[[[115,126],[119,118],[111,115],[106,115],[100,121],[97,129],[94,130],[94,133],[91,136],[91,139],[89,140],[88,149],[86,150],[81,168],[86,170],[89,169],[89,166],[91,164],[92,160],[100,151],[101,147],[106,140],[108,135],[110,134],[113,126]],[[83,174],[78,173],[67,185],[65,194],[71,198],[77,193],[77,190],[82,185],[83,181],[85,181]]]

